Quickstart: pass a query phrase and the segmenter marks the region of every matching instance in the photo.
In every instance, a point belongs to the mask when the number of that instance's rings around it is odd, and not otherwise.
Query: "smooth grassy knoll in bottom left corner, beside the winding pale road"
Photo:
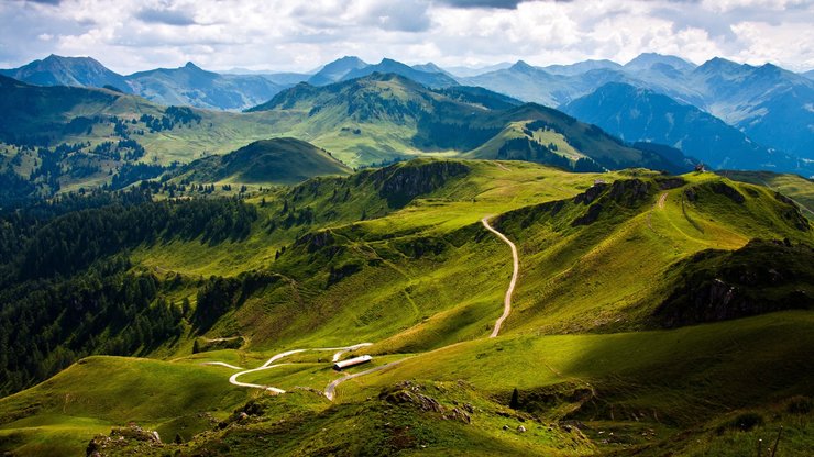
[[[172,439],[184,432],[178,416],[196,422],[198,413],[222,415],[250,393],[224,383],[222,369],[217,367],[90,357],[0,400],[0,449],[21,455],[77,455],[95,434],[131,421],[157,428],[165,439]]]

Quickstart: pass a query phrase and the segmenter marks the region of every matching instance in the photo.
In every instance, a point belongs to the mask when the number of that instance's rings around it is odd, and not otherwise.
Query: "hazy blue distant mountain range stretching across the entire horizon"
[[[48,56],[16,69],[0,74],[36,85],[63,85],[118,88],[136,93],[161,104],[188,104],[198,108],[241,110],[270,100],[285,88],[307,81],[327,86],[364,77],[373,73],[397,74],[431,88],[457,85],[483,87],[515,99],[548,107],[565,107],[610,82],[650,90],[690,104],[739,130],[756,147],[774,149],[776,156],[794,155],[811,160],[814,151],[811,126],[814,125],[814,81],[767,64],[760,67],[714,58],[701,66],[674,56],[642,54],[625,65],[610,60],[585,60],[572,65],[535,67],[520,60],[481,70],[447,71],[432,63],[408,66],[393,59],[371,65],[358,57],[345,56],[322,66],[314,74],[220,75],[188,63],[174,69],[118,75],[92,58]],[[652,107],[658,110],[661,105]],[[596,119],[607,113],[580,115]],[[671,115],[668,112],[659,116]],[[619,119],[624,120],[625,116]],[[667,131],[636,137],[635,127],[627,129],[625,140],[647,141],[668,137]],[[623,129],[624,130],[624,129]],[[622,130],[613,130],[620,134]],[[632,136],[631,136],[632,135]],[[673,145],[678,144],[675,142]],[[704,156],[693,151],[689,155]],[[719,163],[710,157],[712,163]],[[777,160],[760,159],[770,164]],[[794,158],[791,161],[795,161]],[[755,164],[754,160],[746,163]],[[751,165],[750,165],[751,166]],[[793,168],[785,168],[791,170]]]

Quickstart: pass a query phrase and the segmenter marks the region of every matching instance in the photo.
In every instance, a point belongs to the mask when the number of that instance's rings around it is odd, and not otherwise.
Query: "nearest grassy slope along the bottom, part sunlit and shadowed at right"
[[[755,442],[745,439],[739,432],[727,432],[723,438],[736,439],[733,446],[732,441],[722,442],[715,432],[718,424],[738,411],[755,411],[771,421],[771,427],[767,424],[750,436],[771,436],[773,427],[781,423],[787,433],[799,434],[805,430],[802,417],[771,414],[773,405],[782,404],[789,397],[814,394],[809,382],[814,375],[809,357],[814,343],[809,331],[814,324],[812,319],[811,312],[785,312],[676,331],[506,336],[462,343],[345,382],[338,391],[339,406],[326,409],[319,397],[297,390],[270,399],[265,401],[270,410],[260,422],[250,421],[224,432],[202,435],[182,449],[194,454],[195,449],[226,445],[221,453],[230,455],[267,453],[270,448],[257,446],[257,436],[262,435],[275,443],[272,447],[278,453],[275,455],[326,449],[343,455],[380,439],[382,445],[396,446],[405,455],[419,450],[433,455],[579,455],[593,454],[597,450],[595,446],[603,452],[644,446],[644,455],[676,449],[739,455],[743,449],[751,449]],[[778,358],[781,354],[782,360]],[[745,359],[749,361],[746,365]],[[47,383],[0,402],[0,414],[6,417],[26,405],[41,404],[37,415],[4,424],[0,434],[7,438],[7,448],[19,444],[11,436],[33,446],[16,448],[24,455],[78,452],[91,435],[129,420],[147,427],[157,426],[165,441],[169,441],[176,430],[184,432],[185,422],[167,420],[168,412],[180,408],[194,416],[194,412],[216,411],[222,420],[226,414],[218,411],[256,397],[226,383],[233,371],[201,367],[198,360],[196,357],[196,365],[151,361],[150,367],[133,369],[133,365],[144,361],[91,358],[87,363],[90,368],[105,368],[108,372],[121,369],[133,378],[128,381],[118,376],[99,378],[99,371],[80,372],[81,366],[75,366]],[[326,378],[334,376],[320,375],[326,370],[326,365],[321,366],[307,363],[270,370],[252,380],[287,388],[321,389]],[[88,376],[92,377],[92,383]],[[156,384],[158,379],[166,380],[167,386]],[[407,379],[417,380],[415,384],[419,387],[414,391],[438,400],[447,411],[463,404],[474,405],[471,424],[443,420],[441,414],[421,411],[409,403],[375,400],[380,392],[397,390],[396,386]],[[141,384],[136,386],[138,382]],[[165,393],[167,387],[173,389],[169,397]],[[506,408],[513,388],[520,391],[518,412]],[[147,391],[151,401],[136,404],[136,400],[146,398],[139,392]],[[202,394],[195,399],[176,398],[184,391]],[[578,391],[588,393],[573,395]],[[66,403],[66,398],[72,401]],[[546,398],[549,400],[540,403]],[[111,408],[112,404],[116,406]],[[85,419],[88,416],[92,419]],[[568,432],[562,424],[558,425],[562,419],[584,422],[586,425],[581,428],[594,444],[585,441],[582,433]],[[385,423],[392,428],[383,426]],[[503,425],[509,425],[510,430],[503,431]],[[518,425],[530,432],[514,432]],[[350,428],[358,432],[341,432]],[[691,436],[703,441],[675,436],[685,428],[694,430]],[[614,431],[618,441],[603,444],[600,431]],[[652,435],[641,437],[642,433]],[[65,441],[64,434],[73,439]],[[397,436],[400,439],[394,443]],[[785,455],[804,452],[807,443],[804,436],[787,437]],[[163,455],[172,449],[164,446],[145,454]]]

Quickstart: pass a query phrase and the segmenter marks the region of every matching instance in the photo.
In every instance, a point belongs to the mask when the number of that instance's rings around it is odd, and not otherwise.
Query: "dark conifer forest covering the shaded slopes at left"
[[[170,239],[238,241],[256,220],[255,207],[237,199],[156,202],[147,186],[3,210],[0,395],[88,355],[144,355],[206,327],[217,315],[195,313],[188,299],[172,301],[169,292],[185,286],[209,302],[234,296],[242,279],[160,278],[134,269],[128,250]]]

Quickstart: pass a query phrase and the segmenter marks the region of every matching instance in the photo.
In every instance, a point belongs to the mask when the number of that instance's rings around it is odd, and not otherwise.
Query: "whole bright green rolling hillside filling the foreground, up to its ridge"
[[[270,189],[249,205],[257,216],[239,237],[167,228],[132,247],[156,303],[190,302],[179,336],[140,353],[165,361],[90,358],[0,400],[2,449],[84,449],[109,426],[124,426],[123,439],[95,446],[113,455],[248,455],[267,452],[261,436],[280,454],[738,455],[780,424],[789,453],[810,443],[814,231],[768,188],[712,174],[420,159]],[[485,215],[520,256],[495,339],[512,263]],[[222,277],[200,279],[212,275]],[[683,292],[704,285],[710,293]],[[777,302],[763,306],[756,287]],[[690,312],[708,309],[722,312]],[[206,350],[238,336],[239,347]],[[241,378],[290,392],[277,397],[200,365],[253,368],[294,348],[361,342],[373,345],[345,357],[372,354],[369,367],[382,368],[348,378],[332,403],[320,392],[342,375],[324,354],[280,355],[293,365]],[[102,369],[118,375],[85,389]],[[161,399],[176,389],[212,394],[172,413],[184,397]],[[741,432],[747,414],[759,420]],[[131,420],[162,444],[128,432]],[[353,425],[359,434],[332,433]],[[169,444],[176,434],[183,443]]]

